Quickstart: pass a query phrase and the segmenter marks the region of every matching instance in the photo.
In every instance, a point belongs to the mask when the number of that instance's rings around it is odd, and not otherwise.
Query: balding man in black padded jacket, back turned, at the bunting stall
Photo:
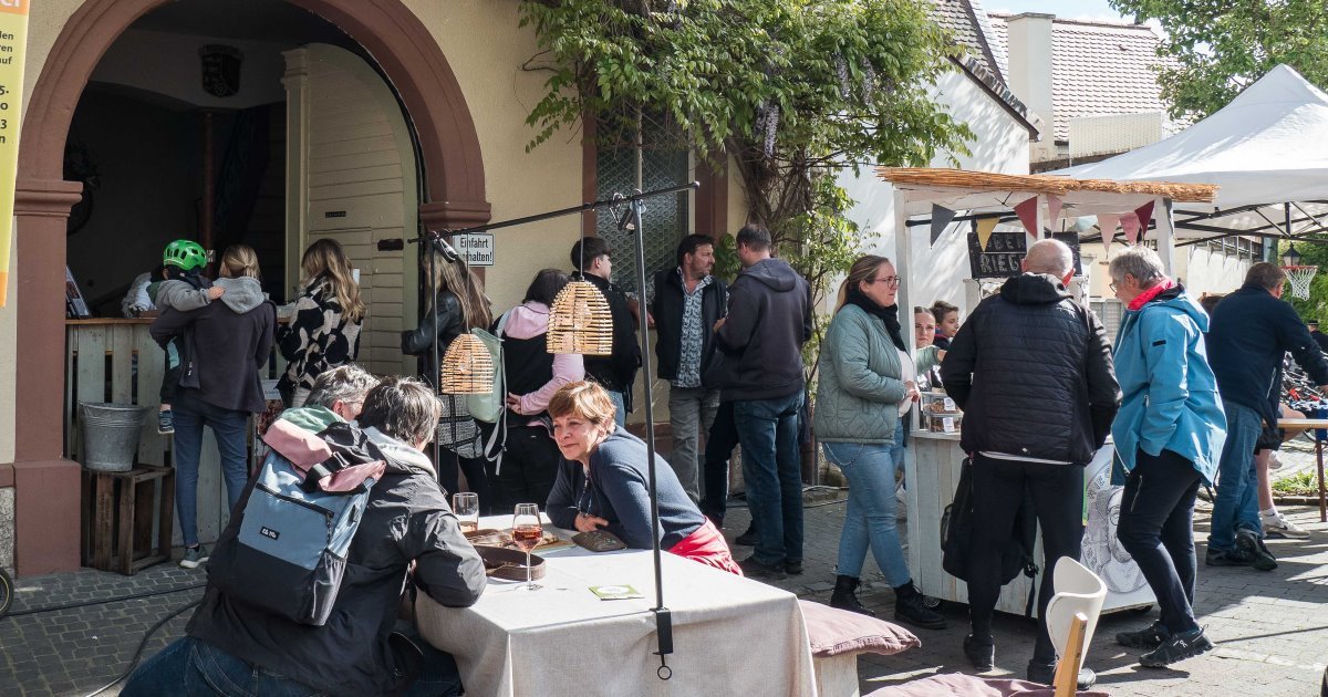
[[[1001,587],[1001,552],[1032,494],[1042,530],[1038,632],[1028,677],[1049,684],[1056,647],[1046,633],[1052,568],[1078,560],[1084,536],[1084,466],[1102,447],[1121,404],[1112,347],[1097,317],[1070,300],[1070,248],[1040,240],[1024,273],[983,300],[955,335],[940,366],[946,392],[964,410],[960,443],[973,458],[975,535],[968,568],[972,633],[964,653],[979,669],[995,660],[991,620]],[[1092,684],[1081,673],[1080,686]]]

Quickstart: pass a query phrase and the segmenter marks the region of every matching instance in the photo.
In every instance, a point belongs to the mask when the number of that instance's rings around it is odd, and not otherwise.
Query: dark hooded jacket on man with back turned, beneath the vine
[[[774,400],[801,392],[802,344],[811,339],[811,287],[782,259],[762,259],[729,288],[714,333],[724,353],[720,398]]]

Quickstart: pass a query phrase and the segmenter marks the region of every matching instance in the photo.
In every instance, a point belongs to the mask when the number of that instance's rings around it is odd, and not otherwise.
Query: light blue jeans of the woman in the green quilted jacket
[[[895,443],[903,438],[895,431]],[[839,574],[862,576],[867,547],[891,587],[911,579],[895,523],[895,443],[821,443],[826,459],[849,478],[849,507],[839,534]],[[899,447],[902,450],[902,447]]]

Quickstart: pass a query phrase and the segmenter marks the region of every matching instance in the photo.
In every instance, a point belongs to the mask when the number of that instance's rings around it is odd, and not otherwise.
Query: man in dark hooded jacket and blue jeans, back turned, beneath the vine
[[[748,508],[761,531],[738,566],[750,576],[782,579],[802,572],[798,409],[811,288],[788,262],[770,256],[772,247],[761,226],[738,231],[742,273],[729,289],[729,316],[720,320],[716,341],[724,353],[720,398],[733,402]]]

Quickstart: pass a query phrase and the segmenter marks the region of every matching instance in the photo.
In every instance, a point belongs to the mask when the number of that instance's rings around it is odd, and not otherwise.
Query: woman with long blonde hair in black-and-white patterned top
[[[295,301],[291,324],[278,331],[282,357],[288,361],[278,389],[287,406],[304,406],[323,370],[355,361],[365,309],[351,260],[336,240],[309,244],[300,268],[304,292]]]

